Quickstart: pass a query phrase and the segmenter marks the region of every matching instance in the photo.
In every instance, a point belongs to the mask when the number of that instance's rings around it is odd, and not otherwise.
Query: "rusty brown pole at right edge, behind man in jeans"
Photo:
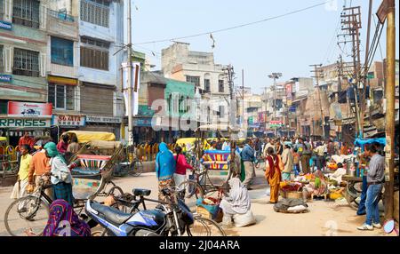
[[[386,60],[386,147],[385,147],[385,218],[392,219],[394,213],[395,183],[395,86],[396,86],[396,19],[395,0],[384,0],[387,28]]]

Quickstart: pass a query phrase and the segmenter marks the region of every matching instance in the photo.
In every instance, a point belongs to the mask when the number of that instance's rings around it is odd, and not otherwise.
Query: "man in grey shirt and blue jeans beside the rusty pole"
[[[378,154],[377,147],[374,145],[365,146],[365,155],[371,157],[369,169],[367,171],[367,195],[365,201],[366,220],[362,226],[358,226],[358,230],[373,230],[374,227],[381,228],[380,210],[378,203],[380,202],[380,194],[385,182],[385,158]]]

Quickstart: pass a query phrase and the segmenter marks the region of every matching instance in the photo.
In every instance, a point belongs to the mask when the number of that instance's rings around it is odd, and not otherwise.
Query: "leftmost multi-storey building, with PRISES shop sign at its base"
[[[48,71],[45,4],[0,1],[0,129],[11,143],[24,128],[41,135],[51,127],[52,109],[44,104]]]

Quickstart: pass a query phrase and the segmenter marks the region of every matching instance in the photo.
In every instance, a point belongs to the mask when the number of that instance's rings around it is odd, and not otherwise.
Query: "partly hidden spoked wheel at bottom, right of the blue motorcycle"
[[[196,216],[195,222],[187,226],[188,236],[227,236],[217,222],[210,218]]]

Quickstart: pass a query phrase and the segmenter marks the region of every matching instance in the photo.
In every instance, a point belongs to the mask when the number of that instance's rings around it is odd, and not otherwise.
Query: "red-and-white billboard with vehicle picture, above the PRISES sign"
[[[52,104],[9,101],[8,116],[52,117]]]

